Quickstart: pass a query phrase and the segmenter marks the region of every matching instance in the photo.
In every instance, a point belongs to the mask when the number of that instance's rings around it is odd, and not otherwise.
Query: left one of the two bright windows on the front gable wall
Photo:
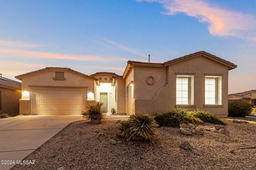
[[[188,105],[188,79],[176,79],[176,104],[178,105]]]

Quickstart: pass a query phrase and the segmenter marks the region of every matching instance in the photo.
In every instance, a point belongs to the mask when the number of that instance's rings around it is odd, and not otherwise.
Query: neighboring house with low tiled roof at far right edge
[[[228,95],[228,103],[233,103],[235,101],[242,101],[256,106],[256,90],[238,92],[236,94]]]

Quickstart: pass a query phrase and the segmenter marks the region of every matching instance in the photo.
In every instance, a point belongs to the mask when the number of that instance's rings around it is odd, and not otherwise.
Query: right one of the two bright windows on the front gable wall
[[[221,105],[221,77],[205,77],[205,104]]]

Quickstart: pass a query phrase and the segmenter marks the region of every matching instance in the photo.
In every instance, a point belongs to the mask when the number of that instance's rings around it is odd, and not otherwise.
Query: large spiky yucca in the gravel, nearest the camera
[[[121,122],[117,128],[119,137],[130,140],[151,140],[157,130],[158,124],[151,115],[131,115],[128,121]]]

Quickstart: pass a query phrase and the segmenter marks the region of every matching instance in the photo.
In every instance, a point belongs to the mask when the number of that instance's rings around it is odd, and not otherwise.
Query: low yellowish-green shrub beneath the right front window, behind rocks
[[[222,122],[220,118],[214,114],[211,114],[210,112],[205,112],[200,109],[197,109],[197,111],[189,112],[192,116],[201,119],[203,122],[206,123],[212,123],[212,124],[223,124],[226,123]]]

